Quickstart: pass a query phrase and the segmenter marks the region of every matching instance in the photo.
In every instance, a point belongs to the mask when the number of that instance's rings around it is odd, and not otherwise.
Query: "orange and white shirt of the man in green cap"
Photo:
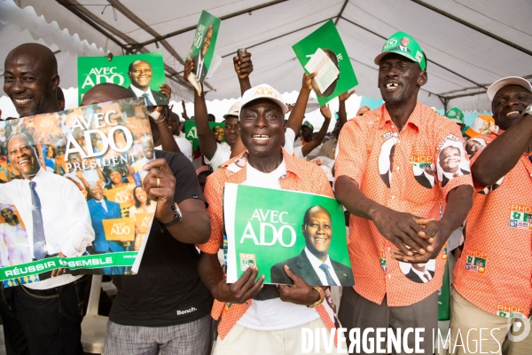
[[[419,102],[401,131],[385,105],[349,120],[336,157],[342,175],[383,206],[435,219],[450,190],[473,185],[458,125]],[[348,249],[356,292],[376,304],[385,295],[389,306],[415,304],[442,287],[445,248],[426,264],[398,262],[371,220],[350,215]]]

